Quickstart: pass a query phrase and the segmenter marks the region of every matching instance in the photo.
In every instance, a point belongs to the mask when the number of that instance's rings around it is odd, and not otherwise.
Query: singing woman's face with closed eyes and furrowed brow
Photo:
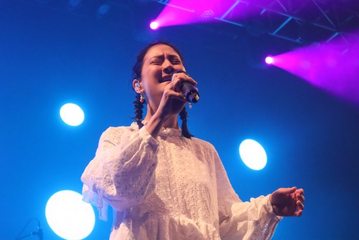
[[[178,53],[168,45],[151,47],[143,60],[141,82],[139,85],[150,104],[159,105],[165,86],[171,82],[174,70],[186,70]],[[169,80],[169,81],[166,81]],[[136,80],[133,81],[135,88]],[[136,89],[136,88],[135,88]],[[139,93],[139,91],[137,91]]]

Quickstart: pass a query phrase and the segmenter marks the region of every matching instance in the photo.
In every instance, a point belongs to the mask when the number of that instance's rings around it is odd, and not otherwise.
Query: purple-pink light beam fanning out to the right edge
[[[274,56],[273,65],[359,104],[359,32]]]

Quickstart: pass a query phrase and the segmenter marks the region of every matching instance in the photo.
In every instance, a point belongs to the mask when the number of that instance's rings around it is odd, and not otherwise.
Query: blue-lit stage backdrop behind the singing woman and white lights
[[[101,133],[131,124],[131,68],[154,39],[182,50],[201,93],[188,110],[189,130],[216,147],[240,198],[305,190],[303,216],[284,218],[273,239],[359,238],[359,108],[262,63],[298,45],[225,23],[149,32],[145,26],[164,7],[158,3],[106,19],[40,2],[0,1],[0,239],[14,239],[32,217],[45,239],[60,239],[47,225],[46,202],[60,190],[81,192]],[[68,102],[83,108],[82,125],[59,117]],[[262,171],[238,156],[246,138],[267,151]],[[107,239],[111,221],[96,211],[87,239]],[[33,222],[24,233],[35,230]]]

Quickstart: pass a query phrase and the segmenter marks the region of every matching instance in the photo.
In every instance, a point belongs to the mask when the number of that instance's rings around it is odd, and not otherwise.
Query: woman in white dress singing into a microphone
[[[149,44],[133,77],[135,122],[102,134],[81,177],[99,217],[114,210],[110,239],[269,239],[283,216],[301,216],[304,191],[295,187],[243,202],[214,146],[189,133],[180,86],[197,83],[176,47]]]

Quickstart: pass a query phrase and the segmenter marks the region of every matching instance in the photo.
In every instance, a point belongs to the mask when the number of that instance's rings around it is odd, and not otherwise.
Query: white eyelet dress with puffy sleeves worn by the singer
[[[269,195],[242,202],[214,146],[174,128],[109,127],[81,180],[100,219],[113,207],[110,239],[269,239],[283,218]]]

